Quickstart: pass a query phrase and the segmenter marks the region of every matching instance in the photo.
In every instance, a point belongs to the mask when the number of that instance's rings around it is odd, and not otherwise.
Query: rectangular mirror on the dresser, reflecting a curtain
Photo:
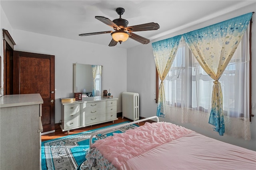
[[[101,96],[101,65],[74,64],[74,93],[81,92],[82,97]]]

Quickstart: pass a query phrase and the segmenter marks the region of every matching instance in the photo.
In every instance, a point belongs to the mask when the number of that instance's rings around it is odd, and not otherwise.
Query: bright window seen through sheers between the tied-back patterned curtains
[[[248,83],[249,87],[251,86],[250,57],[246,59],[244,55],[250,46],[247,44],[248,37],[250,36],[244,35],[219,80],[222,86],[224,115],[229,117],[244,117],[244,113],[248,111],[251,113],[251,107],[250,110],[246,107],[250,101],[243,100],[247,95],[251,98],[251,90],[249,88],[244,90]],[[160,80],[157,71],[156,74],[156,98],[158,98]],[[213,81],[192,56],[190,49],[182,39],[174,62],[164,80],[166,105],[187,107],[208,113],[211,107]]]

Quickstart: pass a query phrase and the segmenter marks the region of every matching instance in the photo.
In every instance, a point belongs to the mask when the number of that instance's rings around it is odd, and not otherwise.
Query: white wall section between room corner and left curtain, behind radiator
[[[127,51],[127,92],[140,94],[140,116],[156,115],[156,64],[151,44]]]

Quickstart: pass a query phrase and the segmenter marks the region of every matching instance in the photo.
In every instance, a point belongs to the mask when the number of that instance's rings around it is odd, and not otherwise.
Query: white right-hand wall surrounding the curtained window
[[[190,26],[184,29],[180,29],[174,33],[166,35],[164,37],[160,37],[158,39],[154,39],[151,42],[159,41],[162,39],[174,37],[176,35],[180,35],[183,33],[187,33],[189,31],[193,31],[195,29],[200,29],[202,27],[206,27],[208,25],[212,25],[214,23],[218,23],[224,20],[228,20],[230,18],[234,18],[236,16],[240,16],[242,14],[246,14],[248,12],[256,12],[256,3],[250,6],[246,6],[240,8],[239,10],[235,10],[234,12],[230,12],[228,14],[218,16],[216,18],[212,18],[208,21],[204,21],[200,24]],[[222,12],[225,13],[225,12]],[[252,23],[252,103],[256,103],[256,76],[254,73],[256,72],[256,16],[253,15],[253,23]],[[161,28],[161,25],[160,25]],[[134,47],[128,49],[127,51],[127,91],[128,92],[137,92],[140,94],[140,116],[142,117],[150,117],[156,115],[157,104],[155,103],[155,63],[154,56],[152,51],[151,43],[148,45],[140,45],[138,47]],[[252,113],[256,115],[256,110],[252,109]],[[256,117],[252,117],[251,123],[251,140],[245,141],[244,139],[235,139],[233,137],[228,136],[219,136],[214,131],[204,131],[204,129],[199,129],[190,125],[188,123],[182,124],[173,122],[167,118],[160,118],[160,121],[166,121],[175,123],[178,125],[182,125],[203,135],[218,139],[220,141],[224,141],[227,143],[232,143],[234,145],[238,145],[244,148],[256,150]]]

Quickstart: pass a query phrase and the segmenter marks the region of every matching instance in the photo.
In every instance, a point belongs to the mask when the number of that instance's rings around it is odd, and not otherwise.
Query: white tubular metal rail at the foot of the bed
[[[152,116],[152,117],[148,117],[148,118],[145,118],[145,119],[140,119],[140,120],[137,120],[137,121],[132,121],[132,122],[129,122],[129,123],[124,123],[122,125],[117,125],[117,126],[109,127],[109,128],[106,128],[106,129],[102,129],[100,131],[96,131],[96,132],[92,133],[92,135],[90,136],[89,148],[91,149],[91,146],[92,146],[92,138],[94,136],[96,136],[97,134],[99,134],[99,133],[104,133],[104,132],[112,130],[112,129],[117,129],[119,127],[124,127],[124,126],[132,125],[132,124],[135,124],[135,123],[140,123],[142,121],[147,121],[147,120],[150,120],[150,119],[156,119],[156,122],[159,122],[159,118],[157,116]]]

